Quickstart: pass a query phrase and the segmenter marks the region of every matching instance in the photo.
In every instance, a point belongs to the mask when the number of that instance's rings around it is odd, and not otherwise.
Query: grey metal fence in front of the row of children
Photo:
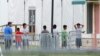
[[[78,51],[76,47],[76,37],[77,33],[75,31],[70,31],[69,33],[41,33],[41,34],[20,34],[20,35],[0,35],[0,53],[3,55],[15,55],[19,53],[20,55],[28,53],[36,54],[41,52],[76,52]],[[11,38],[11,39],[10,39]],[[64,39],[63,39],[64,38]],[[93,42],[92,38],[81,38],[82,46],[79,50],[91,50]],[[99,50],[100,39],[97,39],[97,46]],[[81,52],[81,51],[78,51]],[[7,54],[8,53],[8,54]],[[21,54],[22,53],[22,54]],[[16,54],[17,55],[17,54]]]

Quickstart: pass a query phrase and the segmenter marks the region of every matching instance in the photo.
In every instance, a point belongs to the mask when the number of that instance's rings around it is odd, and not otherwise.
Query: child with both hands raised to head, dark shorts
[[[77,23],[76,25],[74,25],[75,29],[76,29],[76,47],[80,48],[80,46],[82,46],[82,41],[81,41],[81,33],[82,32],[82,28],[84,27],[84,25]]]

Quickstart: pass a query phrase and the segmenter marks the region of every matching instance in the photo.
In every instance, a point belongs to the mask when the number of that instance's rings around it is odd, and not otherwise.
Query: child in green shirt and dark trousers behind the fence
[[[63,31],[61,33],[62,36],[62,48],[67,46],[67,37],[68,37],[68,33],[67,33],[67,25],[63,25]]]

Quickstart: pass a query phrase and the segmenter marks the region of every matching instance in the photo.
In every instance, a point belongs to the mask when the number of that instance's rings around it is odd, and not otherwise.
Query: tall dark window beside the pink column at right
[[[88,3],[87,4],[87,33],[92,33],[92,29],[93,29],[93,4],[92,3]]]

